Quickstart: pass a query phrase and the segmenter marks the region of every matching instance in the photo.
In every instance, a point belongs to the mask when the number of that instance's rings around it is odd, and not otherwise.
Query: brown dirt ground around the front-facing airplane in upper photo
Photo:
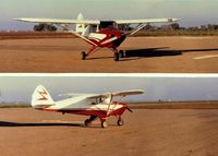
[[[81,60],[81,51],[88,48],[80,38],[0,40],[0,72],[218,72],[218,37],[213,36],[130,37],[120,47],[126,50],[126,58],[119,62],[107,49]]]

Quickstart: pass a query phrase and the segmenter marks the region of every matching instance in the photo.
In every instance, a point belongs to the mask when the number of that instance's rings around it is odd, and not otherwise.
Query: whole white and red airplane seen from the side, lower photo
[[[101,128],[107,128],[108,117],[116,116],[118,118],[117,124],[123,125],[124,122],[121,116],[125,110],[132,112],[126,104],[113,101],[113,97],[123,98],[143,93],[142,89],[133,89],[106,94],[66,94],[69,98],[55,101],[48,91],[43,85],[38,85],[32,95],[32,107],[38,110],[62,112],[63,115],[89,116],[84,121],[85,127],[90,125],[94,120],[99,118]]]

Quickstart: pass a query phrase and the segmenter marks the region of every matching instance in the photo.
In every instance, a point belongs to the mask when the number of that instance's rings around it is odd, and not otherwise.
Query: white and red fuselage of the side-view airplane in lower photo
[[[56,101],[53,106],[36,109],[46,111],[58,111],[62,113],[97,116],[100,119],[106,119],[109,116],[121,116],[126,107],[126,104],[123,103],[96,103],[94,100],[87,99],[84,96],[78,96]]]

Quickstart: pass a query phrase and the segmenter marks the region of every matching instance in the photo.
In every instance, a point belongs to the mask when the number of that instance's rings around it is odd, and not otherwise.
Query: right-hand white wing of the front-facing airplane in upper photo
[[[145,20],[116,20],[117,24],[147,24],[147,23],[168,23],[178,22],[180,19],[145,19]]]

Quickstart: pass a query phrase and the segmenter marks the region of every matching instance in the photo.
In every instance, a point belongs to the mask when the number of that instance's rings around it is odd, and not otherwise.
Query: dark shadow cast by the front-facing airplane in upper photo
[[[155,57],[174,57],[181,56],[185,52],[208,52],[218,50],[218,48],[211,49],[181,49],[171,50],[169,47],[157,47],[157,48],[145,48],[145,49],[130,49],[125,50],[125,58],[121,58],[120,61],[137,60],[142,58],[155,58]],[[113,57],[99,57],[99,58],[87,58],[87,60],[95,59],[111,59]]]

